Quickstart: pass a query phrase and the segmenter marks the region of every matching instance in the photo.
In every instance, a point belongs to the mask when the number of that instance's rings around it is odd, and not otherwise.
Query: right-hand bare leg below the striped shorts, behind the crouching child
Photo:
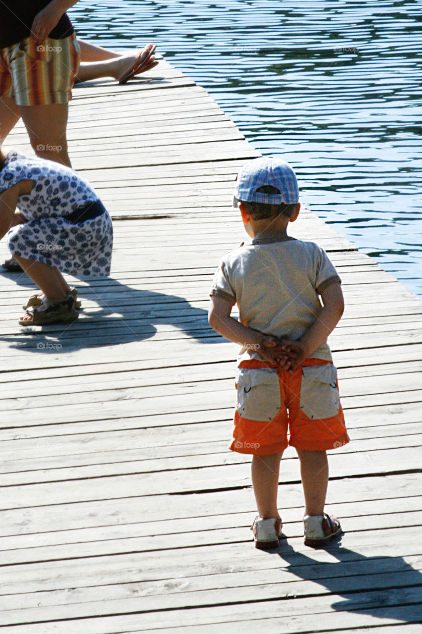
[[[19,106],[19,110],[35,154],[72,167],[67,152],[68,103]]]

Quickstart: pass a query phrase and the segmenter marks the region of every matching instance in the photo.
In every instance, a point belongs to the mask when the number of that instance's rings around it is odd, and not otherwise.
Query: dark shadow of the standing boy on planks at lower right
[[[404,623],[415,623],[420,619],[420,614],[415,617],[409,598],[400,600],[403,588],[419,586],[414,587],[414,603],[419,604],[422,585],[421,572],[407,564],[403,557],[366,557],[343,548],[341,538],[333,540],[326,550],[338,561],[318,562],[295,551],[287,540],[282,540],[278,550],[273,552],[290,564],[286,568],[290,573],[304,581],[319,583],[335,596],[344,597],[343,601],[331,605],[335,611],[397,619]],[[416,598],[418,590],[419,599]]]

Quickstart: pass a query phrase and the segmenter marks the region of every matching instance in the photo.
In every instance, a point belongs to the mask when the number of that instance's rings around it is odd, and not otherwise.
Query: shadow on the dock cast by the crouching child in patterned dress
[[[42,327],[21,327],[16,324],[13,333],[1,336],[0,340],[17,349],[36,352],[42,348],[51,353],[57,353],[58,347],[61,352],[66,348],[74,351],[91,346],[146,341],[152,337],[151,346],[154,344],[157,349],[160,340],[163,346],[168,345],[169,339],[186,337],[203,344],[224,341],[208,325],[207,311],[196,305],[208,299],[205,293],[198,294],[197,301],[188,302],[177,295],[146,290],[148,285],[144,280],[139,282],[139,286],[143,287],[139,289],[111,278],[94,279],[91,282],[93,286],[81,287],[76,283],[82,310],[80,318],[74,323]],[[30,285],[30,280],[22,274],[15,281],[26,288]],[[83,278],[83,281],[91,280]],[[169,281],[168,286],[172,286],[172,281]],[[32,285],[28,295],[34,292],[35,287]],[[87,306],[87,300],[95,302],[95,305]],[[25,311],[20,309],[16,317],[23,313]]]

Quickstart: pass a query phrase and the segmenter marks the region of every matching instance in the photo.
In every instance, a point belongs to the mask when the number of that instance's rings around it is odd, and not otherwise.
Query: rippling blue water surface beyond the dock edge
[[[80,37],[148,41],[302,200],[422,296],[422,0],[80,0]]]

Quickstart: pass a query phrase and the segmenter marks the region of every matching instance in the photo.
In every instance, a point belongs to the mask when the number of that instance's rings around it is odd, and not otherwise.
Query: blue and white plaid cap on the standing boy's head
[[[279,194],[265,194],[257,191],[263,185],[272,185]],[[246,163],[234,183],[233,207],[238,200],[262,202],[265,205],[297,203],[299,188],[295,172],[286,161],[277,157],[260,157]]]

